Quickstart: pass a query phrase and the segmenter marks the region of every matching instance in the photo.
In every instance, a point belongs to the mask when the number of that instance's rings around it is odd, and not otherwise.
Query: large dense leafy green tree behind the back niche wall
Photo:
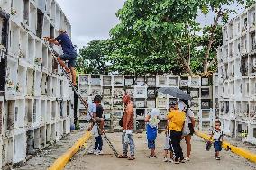
[[[177,1],[128,0],[117,13],[121,23],[111,30],[111,38],[118,47],[111,56],[114,68],[121,62],[126,66],[123,69],[137,74],[182,72],[180,60],[171,50],[171,40],[182,33],[179,31],[184,18],[196,17],[199,4],[200,1],[181,4]]]

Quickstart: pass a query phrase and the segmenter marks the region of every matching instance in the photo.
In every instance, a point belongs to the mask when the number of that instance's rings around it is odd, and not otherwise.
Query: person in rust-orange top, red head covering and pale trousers
[[[133,141],[133,103],[129,94],[123,95],[123,103],[125,105],[125,111],[123,113],[123,155],[119,155],[118,158],[128,158],[128,160],[134,160],[135,144]],[[130,157],[128,157],[128,146],[130,146]]]

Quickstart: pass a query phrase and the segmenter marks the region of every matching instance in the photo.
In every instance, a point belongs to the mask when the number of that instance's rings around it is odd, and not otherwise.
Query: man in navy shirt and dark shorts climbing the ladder
[[[50,37],[44,37],[44,40],[49,41],[50,43],[53,43],[55,45],[61,46],[63,50],[63,55],[59,56],[57,58],[59,64],[64,67],[67,73],[70,73],[72,75],[72,82],[73,85],[77,86],[76,83],[76,59],[77,59],[77,49],[73,46],[69,35],[64,29],[59,29],[59,36],[54,38]],[[64,61],[68,60],[68,67],[65,65]]]

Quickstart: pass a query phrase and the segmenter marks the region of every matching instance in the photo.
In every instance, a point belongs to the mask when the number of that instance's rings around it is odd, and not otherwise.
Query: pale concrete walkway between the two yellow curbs
[[[115,148],[120,152],[122,151],[121,133],[108,133],[107,136],[114,141]],[[205,143],[198,137],[193,138],[192,144],[192,156],[190,162],[185,164],[175,165],[173,163],[165,163],[162,161],[162,148],[164,142],[164,134],[159,134],[157,140],[157,158],[148,158],[150,154],[147,149],[147,143],[145,134],[134,134],[133,139],[136,145],[136,159],[129,161],[126,159],[117,159],[114,157],[112,150],[107,146],[104,140],[104,155],[95,156],[88,155],[87,151],[91,148],[93,141],[87,143],[87,148],[82,149],[76,154],[72,161],[66,166],[66,170],[167,170],[167,169],[198,169],[198,170],[252,170],[256,169],[256,164],[247,161],[242,157],[238,157],[231,152],[223,151],[221,153],[221,160],[217,161],[214,158],[214,150],[205,150]],[[183,148],[185,148],[185,142],[183,141]],[[120,152],[121,153],[121,152]],[[186,148],[184,149],[186,154]]]

